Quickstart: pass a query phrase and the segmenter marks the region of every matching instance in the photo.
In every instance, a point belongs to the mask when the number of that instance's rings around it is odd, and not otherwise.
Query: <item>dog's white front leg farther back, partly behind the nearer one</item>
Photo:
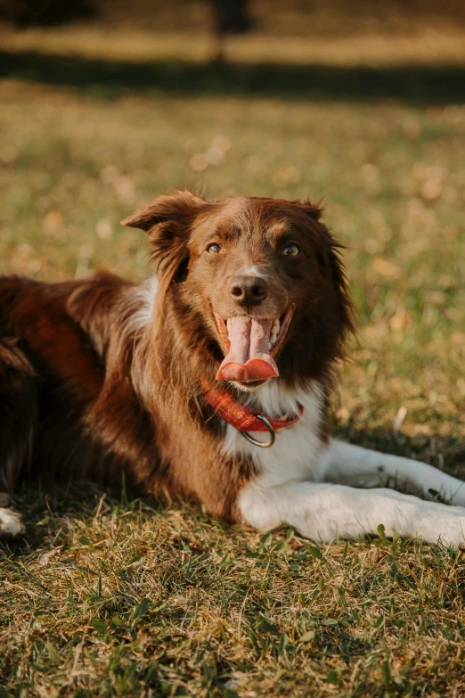
[[[319,464],[319,479],[353,487],[414,488],[423,497],[439,493],[453,505],[465,506],[465,482],[432,465],[388,456],[336,439]]]

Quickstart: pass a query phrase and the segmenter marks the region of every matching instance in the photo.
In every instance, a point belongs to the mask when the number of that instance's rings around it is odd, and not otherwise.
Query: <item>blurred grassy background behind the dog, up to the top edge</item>
[[[0,15],[0,273],[142,278],[143,234],[118,221],[173,187],[323,200],[360,326],[339,429],[463,463],[465,4],[0,0]]]

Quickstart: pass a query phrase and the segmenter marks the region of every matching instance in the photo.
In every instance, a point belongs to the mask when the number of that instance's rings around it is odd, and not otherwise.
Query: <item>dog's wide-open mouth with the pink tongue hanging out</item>
[[[235,316],[214,313],[224,350],[217,381],[259,385],[279,375],[274,357],[281,349],[296,307],[280,317]]]

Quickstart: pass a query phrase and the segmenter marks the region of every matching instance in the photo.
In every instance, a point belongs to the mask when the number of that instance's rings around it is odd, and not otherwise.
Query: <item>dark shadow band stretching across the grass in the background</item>
[[[294,100],[465,103],[465,67],[452,65],[344,68],[316,64],[129,62],[0,51],[0,76],[70,86],[108,98],[150,91]]]

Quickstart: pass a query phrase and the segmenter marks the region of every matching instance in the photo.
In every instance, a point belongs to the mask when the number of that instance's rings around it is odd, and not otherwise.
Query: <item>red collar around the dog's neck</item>
[[[231,424],[237,431],[268,431],[265,423],[258,419],[257,415],[266,417],[274,431],[281,431],[281,429],[297,423],[304,414],[304,407],[299,405],[298,415],[292,417],[283,415],[280,418],[269,417],[257,409],[252,410],[241,405],[230,392],[216,388],[205,390],[204,397],[208,404],[213,407],[216,415],[224,419],[224,422]]]

